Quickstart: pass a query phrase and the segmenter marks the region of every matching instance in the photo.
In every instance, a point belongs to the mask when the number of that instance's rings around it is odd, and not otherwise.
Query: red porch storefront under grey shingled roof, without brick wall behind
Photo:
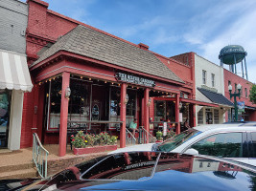
[[[172,95],[176,112],[184,85],[151,52],[84,26],[59,38],[30,70],[36,83],[32,133],[42,143],[59,143],[59,156],[73,130],[106,131],[125,147],[134,118],[150,131],[151,97]]]

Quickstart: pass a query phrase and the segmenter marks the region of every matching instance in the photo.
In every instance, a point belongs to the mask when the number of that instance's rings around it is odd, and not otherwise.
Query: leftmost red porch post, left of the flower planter
[[[64,72],[62,74],[62,89],[61,89],[61,106],[60,106],[60,120],[59,120],[59,145],[58,156],[66,155],[67,142],[67,118],[68,118],[68,97],[65,97],[67,87],[69,87],[70,73]],[[71,93],[72,94],[72,93]]]

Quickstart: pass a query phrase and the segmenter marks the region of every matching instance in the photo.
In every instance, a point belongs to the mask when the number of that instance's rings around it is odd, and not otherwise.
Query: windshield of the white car
[[[156,150],[170,152],[174,150],[176,147],[178,147],[179,145],[181,145],[182,143],[189,140],[190,138],[194,138],[198,136],[200,133],[202,132],[196,129],[190,129],[190,130],[184,131],[181,134],[176,135],[174,138],[170,138],[164,141],[163,143],[159,144]]]

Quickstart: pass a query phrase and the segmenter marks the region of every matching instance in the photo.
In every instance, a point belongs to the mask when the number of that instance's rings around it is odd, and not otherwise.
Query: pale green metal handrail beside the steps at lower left
[[[47,177],[47,157],[49,152],[42,146],[36,133],[33,134],[33,161],[41,178]]]

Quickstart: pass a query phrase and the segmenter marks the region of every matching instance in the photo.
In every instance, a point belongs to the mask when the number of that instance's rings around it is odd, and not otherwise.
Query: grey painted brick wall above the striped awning
[[[26,53],[28,6],[16,0],[0,1],[0,49]]]

